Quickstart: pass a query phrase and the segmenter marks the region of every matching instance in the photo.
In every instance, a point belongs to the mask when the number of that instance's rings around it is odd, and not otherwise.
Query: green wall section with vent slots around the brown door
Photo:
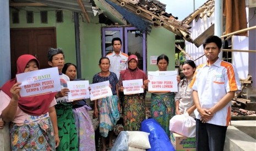
[[[26,10],[34,11],[34,23],[26,23]],[[19,24],[12,23],[12,11],[10,9],[10,28],[36,28],[36,27],[56,27],[57,47],[64,51],[65,61],[76,63],[75,58],[75,32],[74,22],[72,21],[72,11],[63,10],[63,22],[57,23],[55,10],[43,8],[26,8],[19,11]],[[40,10],[48,10],[48,24],[42,24]],[[45,54],[47,55],[47,54]]]

